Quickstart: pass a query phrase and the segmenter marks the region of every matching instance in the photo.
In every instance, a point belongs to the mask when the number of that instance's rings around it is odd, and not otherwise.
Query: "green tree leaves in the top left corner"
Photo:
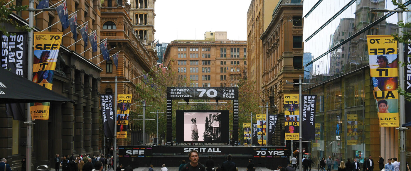
[[[8,23],[10,25],[13,25],[18,30],[27,32],[30,31],[32,28],[30,28],[28,25],[22,25],[12,18],[13,11],[25,11],[27,10],[28,5],[17,6],[14,4],[14,0],[12,0],[10,3],[9,2],[9,0],[0,0],[0,23]],[[2,32],[6,36],[10,35],[10,33],[6,30],[6,26],[4,24],[0,26],[0,32]]]

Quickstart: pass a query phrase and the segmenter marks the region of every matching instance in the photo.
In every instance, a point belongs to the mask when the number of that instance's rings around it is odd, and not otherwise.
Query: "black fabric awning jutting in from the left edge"
[[[30,102],[74,102],[74,100],[1,68],[0,104]]]

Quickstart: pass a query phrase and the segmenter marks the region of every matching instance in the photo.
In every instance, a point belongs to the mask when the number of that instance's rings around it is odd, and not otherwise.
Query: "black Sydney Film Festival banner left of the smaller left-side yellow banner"
[[[114,94],[100,94],[100,106],[102,111],[104,135],[106,138],[114,138]]]

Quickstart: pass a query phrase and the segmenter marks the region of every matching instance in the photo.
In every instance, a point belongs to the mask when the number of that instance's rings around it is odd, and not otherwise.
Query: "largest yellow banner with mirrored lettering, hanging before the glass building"
[[[367,35],[369,70],[380,127],[398,127],[398,52],[392,35]]]

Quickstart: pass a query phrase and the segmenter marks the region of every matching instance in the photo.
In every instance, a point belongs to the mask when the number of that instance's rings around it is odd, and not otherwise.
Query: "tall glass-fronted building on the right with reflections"
[[[328,156],[332,169],[347,158],[399,157],[398,131],[379,127],[367,51],[367,35],[397,32],[397,13],[376,8],[395,9],[390,0],[304,0],[304,82],[315,83],[304,89],[318,95],[314,166]]]

